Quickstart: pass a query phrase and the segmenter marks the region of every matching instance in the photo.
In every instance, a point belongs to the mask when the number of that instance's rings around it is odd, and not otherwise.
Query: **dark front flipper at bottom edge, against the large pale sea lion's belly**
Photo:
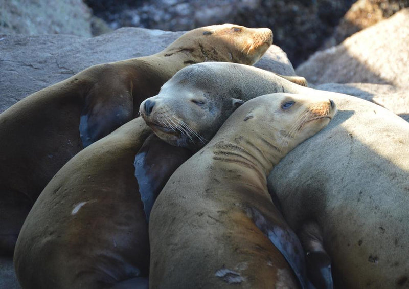
[[[306,223],[298,235],[306,252],[308,278],[317,289],[332,289],[331,259],[324,249],[319,226],[314,222]]]

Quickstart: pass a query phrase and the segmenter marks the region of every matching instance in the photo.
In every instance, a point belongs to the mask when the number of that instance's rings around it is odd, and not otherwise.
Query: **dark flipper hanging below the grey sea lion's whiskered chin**
[[[150,135],[145,140],[141,149],[135,155],[133,165],[147,221],[149,221],[153,203],[169,177],[192,154],[186,148],[165,143],[155,134]]]

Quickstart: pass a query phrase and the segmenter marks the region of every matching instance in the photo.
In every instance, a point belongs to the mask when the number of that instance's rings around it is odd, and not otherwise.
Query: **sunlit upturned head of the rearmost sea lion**
[[[200,27],[185,33],[170,45],[166,55],[173,51],[186,51],[198,55],[205,62],[253,65],[271,43],[272,32],[269,28],[247,28],[226,23]]]

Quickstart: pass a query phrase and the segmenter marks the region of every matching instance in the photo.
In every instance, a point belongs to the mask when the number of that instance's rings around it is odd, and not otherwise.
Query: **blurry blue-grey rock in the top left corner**
[[[0,34],[90,37],[91,16],[82,0],[4,0],[0,7]]]

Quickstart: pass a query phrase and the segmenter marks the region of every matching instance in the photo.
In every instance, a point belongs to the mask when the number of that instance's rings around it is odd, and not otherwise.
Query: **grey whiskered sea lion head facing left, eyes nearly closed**
[[[142,102],[140,114],[158,137],[171,145],[197,150],[244,103],[245,85],[233,81],[239,72],[234,65],[219,63],[199,63],[180,70],[158,95]]]

